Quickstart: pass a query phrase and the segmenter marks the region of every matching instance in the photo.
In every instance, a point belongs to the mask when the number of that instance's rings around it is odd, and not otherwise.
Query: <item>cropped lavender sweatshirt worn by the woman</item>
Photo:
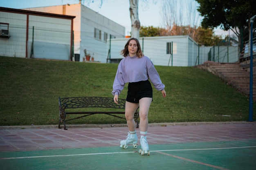
[[[154,87],[158,91],[164,89],[164,84],[160,79],[151,60],[143,56],[124,57],[118,65],[116,77],[113,83],[112,95],[119,95],[124,89],[124,85],[128,82],[139,82],[150,79]]]

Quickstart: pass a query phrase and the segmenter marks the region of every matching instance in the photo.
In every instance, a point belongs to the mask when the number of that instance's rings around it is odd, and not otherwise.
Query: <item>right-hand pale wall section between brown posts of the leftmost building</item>
[[[69,60],[70,25],[71,20],[29,15],[29,44],[34,26],[34,58]]]

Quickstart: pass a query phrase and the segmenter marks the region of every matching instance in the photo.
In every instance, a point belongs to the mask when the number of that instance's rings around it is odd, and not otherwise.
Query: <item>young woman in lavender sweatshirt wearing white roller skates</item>
[[[134,148],[137,148],[138,138],[133,117],[139,107],[139,129],[141,135],[141,150],[139,150],[139,153],[141,155],[149,155],[146,135],[148,132],[148,110],[153,101],[153,90],[148,79],[158,91],[162,92],[163,97],[166,97],[165,86],[162,84],[151,60],[143,55],[139,41],[136,38],[128,40],[121,51],[121,55],[125,58],[118,65],[112,95],[114,96],[114,102],[118,104],[119,94],[124,89],[124,85],[129,83],[125,108],[129,132],[126,139],[120,142],[120,147],[127,148],[127,144],[133,144]]]

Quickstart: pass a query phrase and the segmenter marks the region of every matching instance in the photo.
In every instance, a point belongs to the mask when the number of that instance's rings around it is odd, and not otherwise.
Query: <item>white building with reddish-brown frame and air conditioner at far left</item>
[[[0,55],[70,60],[74,18],[0,7]]]

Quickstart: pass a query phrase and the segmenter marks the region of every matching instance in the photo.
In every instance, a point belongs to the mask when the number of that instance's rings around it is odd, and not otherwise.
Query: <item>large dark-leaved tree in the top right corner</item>
[[[238,48],[244,41],[244,31],[250,28],[249,20],[256,14],[256,0],[196,0],[200,6],[198,11],[204,17],[204,28],[221,26],[223,30],[233,31],[238,37]],[[256,24],[254,24],[255,28]],[[250,29],[249,29],[250,30]],[[247,32],[247,35],[249,32]],[[245,34],[246,35],[246,34]]]

